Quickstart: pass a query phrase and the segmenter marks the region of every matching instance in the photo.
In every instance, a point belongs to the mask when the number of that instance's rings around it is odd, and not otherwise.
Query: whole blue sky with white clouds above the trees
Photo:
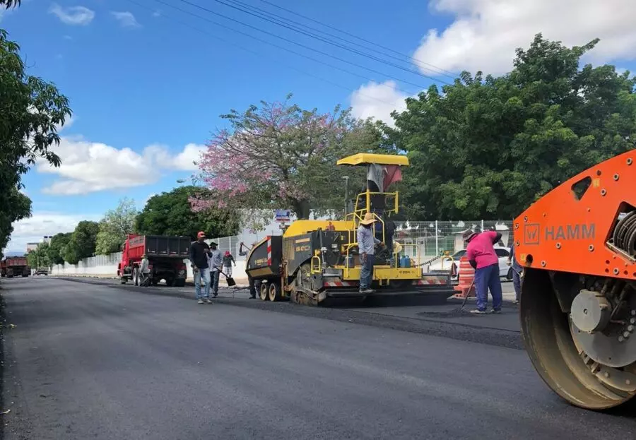
[[[25,242],[45,234],[72,230],[83,218],[98,220],[123,196],[134,198],[141,208],[151,194],[172,189],[177,179],[194,172],[192,160],[210,132],[223,125],[218,115],[231,108],[281,100],[291,92],[304,107],[327,111],[340,103],[353,106],[359,117],[386,119],[391,109],[404,106],[404,97],[420,90],[392,77],[426,87],[432,81],[418,73],[430,76],[429,64],[448,71],[502,73],[510,69],[514,48],[527,46],[536,32],[566,44],[601,37],[590,61],[616,61],[621,68],[632,67],[636,47],[629,14],[620,16],[615,6],[610,10],[593,0],[563,1],[563,9],[544,0],[531,5],[511,1],[506,7],[495,0],[271,0],[413,55],[413,69],[417,65],[419,71],[410,73],[266,23],[219,1],[188,1],[379,73],[245,28],[182,0],[24,0],[20,8],[1,14],[0,27],[19,42],[30,73],[53,81],[70,98],[73,119],[61,131],[61,169],[41,166],[24,178],[34,216],[16,225],[9,250],[24,249]],[[318,26],[261,0],[241,1]],[[627,10],[630,0],[621,1]],[[167,4],[359,76],[220,28]],[[573,9],[577,13],[572,14]],[[376,49],[376,56],[385,57]]]

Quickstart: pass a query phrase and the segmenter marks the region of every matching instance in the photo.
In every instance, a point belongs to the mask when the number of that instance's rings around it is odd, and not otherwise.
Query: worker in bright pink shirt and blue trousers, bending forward
[[[500,232],[486,231],[464,232],[466,257],[475,269],[475,288],[477,290],[477,309],[471,310],[473,314],[485,314],[488,305],[488,289],[493,295],[493,313],[501,313],[502,293],[501,280],[499,278],[499,257],[495,253],[494,244],[501,239]]]

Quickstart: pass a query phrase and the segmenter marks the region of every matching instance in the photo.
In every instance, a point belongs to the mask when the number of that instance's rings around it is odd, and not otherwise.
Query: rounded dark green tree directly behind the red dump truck
[[[140,234],[185,235],[191,239],[204,231],[208,237],[225,237],[238,231],[237,214],[232,210],[208,209],[194,212],[189,198],[204,189],[179,186],[170,192],[152,196],[136,218]]]

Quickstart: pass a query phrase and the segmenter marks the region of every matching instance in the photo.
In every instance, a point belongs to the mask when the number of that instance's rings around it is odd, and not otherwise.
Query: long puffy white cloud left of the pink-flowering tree
[[[62,136],[54,152],[61,157],[58,168],[45,161],[37,171],[58,174],[61,179],[42,190],[46,194],[88,194],[106,189],[130,188],[156,182],[168,170],[194,171],[204,145],[188,144],[176,155],[165,145],[149,145],[141,153],[90,142],[82,136]]]

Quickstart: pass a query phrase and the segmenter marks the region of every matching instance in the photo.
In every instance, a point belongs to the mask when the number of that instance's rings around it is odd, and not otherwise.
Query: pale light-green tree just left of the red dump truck
[[[117,208],[109,210],[100,221],[95,253],[105,255],[121,250],[126,235],[135,232],[136,215],[135,202],[122,198]]]

